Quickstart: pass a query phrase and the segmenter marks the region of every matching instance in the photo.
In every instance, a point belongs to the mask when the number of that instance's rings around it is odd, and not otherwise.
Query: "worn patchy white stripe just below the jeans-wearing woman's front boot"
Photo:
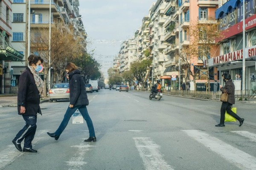
[[[76,155],[72,158],[70,158],[69,161],[67,162],[67,165],[69,166],[69,170],[81,170],[83,169],[83,165],[87,164],[87,162],[84,161],[84,154],[86,153],[86,151],[91,150],[92,145],[84,145],[83,143],[80,143],[80,145],[75,145],[75,146],[71,146],[71,147],[77,147],[78,152],[76,153]]]

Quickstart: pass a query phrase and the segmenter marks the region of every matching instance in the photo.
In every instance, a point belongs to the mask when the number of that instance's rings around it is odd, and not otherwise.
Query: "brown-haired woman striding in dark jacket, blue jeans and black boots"
[[[89,105],[89,101],[87,99],[85,83],[83,77],[81,76],[81,71],[78,70],[76,65],[72,62],[67,63],[65,70],[67,72],[67,78],[70,80],[70,105],[68,106],[64,118],[61,124],[59,125],[58,129],[54,133],[47,132],[47,134],[55,138],[55,140],[58,140],[61,133],[66,128],[70,120],[70,117],[78,109],[81,115],[83,116],[84,120],[86,121],[89,130],[89,138],[85,139],[84,142],[96,142],[93,122],[90,119],[90,116],[86,108],[86,106]]]

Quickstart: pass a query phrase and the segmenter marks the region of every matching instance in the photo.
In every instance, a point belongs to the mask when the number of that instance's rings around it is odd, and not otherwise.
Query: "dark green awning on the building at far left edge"
[[[0,49],[0,60],[4,61],[22,61],[24,55],[19,51],[7,46]]]

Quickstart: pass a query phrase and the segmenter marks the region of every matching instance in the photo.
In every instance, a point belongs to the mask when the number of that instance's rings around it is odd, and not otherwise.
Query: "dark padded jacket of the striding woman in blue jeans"
[[[70,105],[89,105],[87,93],[85,90],[84,79],[81,76],[80,70],[74,70],[68,74],[70,79]]]

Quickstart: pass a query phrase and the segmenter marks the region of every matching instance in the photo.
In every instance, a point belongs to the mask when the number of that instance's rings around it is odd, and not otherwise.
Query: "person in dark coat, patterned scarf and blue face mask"
[[[30,55],[28,57],[28,67],[20,75],[18,88],[18,114],[23,116],[26,125],[20,130],[12,140],[17,150],[22,151],[20,143],[24,139],[23,152],[35,153],[32,149],[32,140],[35,136],[37,113],[41,113],[40,95],[44,90],[44,82],[39,77],[38,72],[42,69],[43,59],[39,56]]]

